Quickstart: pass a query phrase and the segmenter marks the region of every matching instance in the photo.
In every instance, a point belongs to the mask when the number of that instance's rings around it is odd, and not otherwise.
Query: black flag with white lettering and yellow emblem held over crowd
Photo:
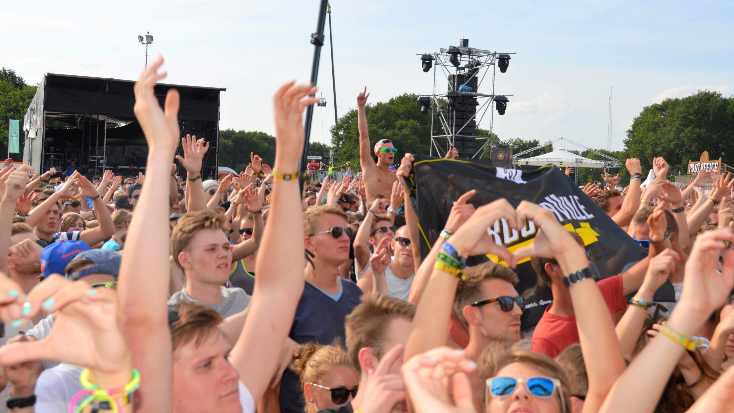
[[[426,257],[430,246],[435,243],[451,212],[453,202],[462,194],[476,189],[469,203],[476,207],[505,198],[517,208],[520,201],[534,202],[550,210],[553,216],[570,231],[584,239],[586,251],[599,268],[602,277],[619,274],[627,264],[647,256],[619,225],[609,218],[573,180],[548,165],[533,170],[487,167],[459,159],[450,160],[415,156],[410,186],[415,197],[418,225],[421,234],[421,256]],[[537,228],[526,222],[523,230],[511,230],[504,219],[487,228],[497,244],[506,246],[511,252],[530,244]],[[473,257],[473,263],[491,259],[501,263],[496,256]],[[543,310],[551,302],[551,288],[545,285],[530,265],[530,260],[520,261],[515,268],[520,283],[517,292],[526,296],[522,329],[531,329],[537,324]]]

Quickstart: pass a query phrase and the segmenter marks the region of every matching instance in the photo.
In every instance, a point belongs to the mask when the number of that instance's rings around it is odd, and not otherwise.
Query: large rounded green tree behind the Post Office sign
[[[686,175],[688,161],[697,161],[708,150],[709,158],[734,162],[734,98],[699,90],[686,98],[666,99],[645,106],[632,121],[625,139],[625,153],[639,158],[643,179],[653,168],[653,158],[663,156],[670,176]],[[628,175],[622,168],[622,175]]]

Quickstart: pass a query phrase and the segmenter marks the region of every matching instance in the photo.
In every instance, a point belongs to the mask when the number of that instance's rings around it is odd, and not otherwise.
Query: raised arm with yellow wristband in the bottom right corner
[[[683,293],[666,323],[667,335],[655,335],[635,357],[609,392],[600,412],[653,412],[670,374],[690,337],[719,307],[734,286],[734,254],[724,253],[722,274],[717,274],[724,241],[733,242],[730,230],[708,231],[697,237],[686,261]],[[690,345],[688,345],[690,343]],[[644,377],[644,380],[640,378]]]

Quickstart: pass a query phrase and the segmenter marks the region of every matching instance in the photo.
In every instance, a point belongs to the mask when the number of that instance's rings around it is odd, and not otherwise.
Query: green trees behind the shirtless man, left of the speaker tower
[[[419,110],[418,95],[405,93],[387,102],[365,107],[369,126],[370,148],[380,139],[390,139],[398,149],[396,164],[404,153],[430,153],[431,115]],[[434,128],[440,130],[435,116]],[[336,164],[360,164],[360,134],[357,128],[357,109],[342,115],[331,129],[332,145],[338,147]]]

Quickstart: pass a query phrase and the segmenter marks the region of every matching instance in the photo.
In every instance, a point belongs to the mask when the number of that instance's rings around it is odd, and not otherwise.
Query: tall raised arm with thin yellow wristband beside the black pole
[[[296,306],[303,292],[304,244],[301,228],[301,189],[299,180],[285,180],[298,171],[303,149],[302,112],[319,101],[310,98],[316,87],[284,84],[275,92],[275,182],[272,190],[270,222],[262,241],[263,254],[258,254],[258,282],[252,293],[249,314],[242,333],[230,354],[232,365],[250,390],[255,404],[268,386],[293,324]],[[285,175],[283,175],[285,174]],[[272,255],[277,251],[280,257]],[[263,332],[267,332],[263,335]],[[258,357],[252,357],[257,354]]]

